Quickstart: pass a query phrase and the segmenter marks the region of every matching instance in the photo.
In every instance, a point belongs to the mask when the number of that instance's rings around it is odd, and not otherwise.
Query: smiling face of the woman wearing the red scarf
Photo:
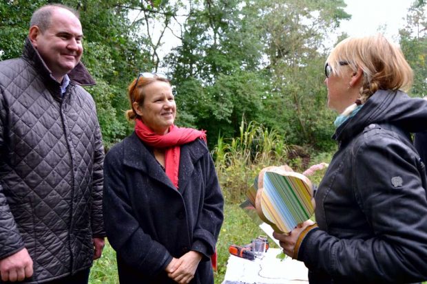
[[[169,83],[154,81],[144,87],[144,104],[134,102],[134,109],[144,124],[163,135],[174,124],[176,104]]]

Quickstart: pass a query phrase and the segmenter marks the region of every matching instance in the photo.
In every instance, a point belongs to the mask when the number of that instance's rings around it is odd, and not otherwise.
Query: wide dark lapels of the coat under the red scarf
[[[143,171],[153,179],[162,182],[170,188],[176,190],[165,171],[158,165],[158,162],[149,152],[145,144],[138,138],[136,133],[132,133],[125,138],[123,164]],[[191,145],[191,146],[189,146]],[[207,146],[200,140],[195,140],[181,146],[180,163],[178,173],[178,191],[182,194],[188,183],[191,173],[194,171],[194,164],[207,153]]]

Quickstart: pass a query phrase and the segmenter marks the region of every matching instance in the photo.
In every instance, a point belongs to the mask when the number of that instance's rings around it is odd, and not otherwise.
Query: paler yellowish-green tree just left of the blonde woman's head
[[[333,113],[326,110],[323,67],[330,30],[350,15],[344,1],[254,1],[267,54],[271,90],[262,119],[293,144],[333,146]],[[256,23],[254,23],[255,25]]]

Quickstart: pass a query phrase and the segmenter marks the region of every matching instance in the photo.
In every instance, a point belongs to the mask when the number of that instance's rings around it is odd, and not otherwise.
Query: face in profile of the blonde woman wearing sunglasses
[[[341,76],[332,70],[329,77],[324,80],[328,89],[328,107],[338,113],[342,113],[357,98],[357,94],[356,96],[352,94],[354,90],[350,86],[353,71],[348,65],[340,65],[340,68],[342,68]]]

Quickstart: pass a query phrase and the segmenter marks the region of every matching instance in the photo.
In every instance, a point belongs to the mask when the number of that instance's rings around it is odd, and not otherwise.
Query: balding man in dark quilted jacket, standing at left
[[[32,15],[0,62],[0,283],[87,283],[101,256],[103,145],[76,11]]]

